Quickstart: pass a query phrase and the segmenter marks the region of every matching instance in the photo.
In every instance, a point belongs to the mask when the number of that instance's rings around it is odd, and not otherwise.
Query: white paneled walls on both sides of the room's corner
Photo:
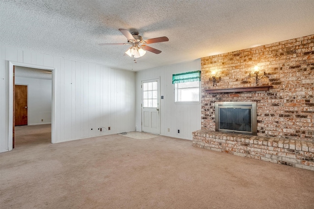
[[[0,152],[12,148],[9,61],[54,68],[54,143],[130,132],[135,126],[141,131],[141,81],[155,78],[160,78],[160,95],[164,96],[159,107],[160,135],[192,139],[192,132],[201,128],[201,104],[175,104],[172,84],[172,74],[200,70],[199,59],[134,73],[0,46]],[[105,127],[103,132],[99,127]]]

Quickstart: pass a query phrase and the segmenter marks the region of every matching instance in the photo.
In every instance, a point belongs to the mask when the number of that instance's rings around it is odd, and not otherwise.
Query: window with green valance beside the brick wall
[[[172,83],[175,84],[175,101],[199,102],[200,78],[201,71],[173,74]]]

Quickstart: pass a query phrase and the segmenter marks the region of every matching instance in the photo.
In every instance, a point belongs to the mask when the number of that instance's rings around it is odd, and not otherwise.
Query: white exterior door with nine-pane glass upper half
[[[159,79],[142,81],[142,131],[159,134]]]

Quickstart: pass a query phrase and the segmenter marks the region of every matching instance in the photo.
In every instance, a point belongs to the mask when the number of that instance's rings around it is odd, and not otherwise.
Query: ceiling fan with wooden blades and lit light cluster
[[[129,32],[127,29],[119,29],[120,32],[127,37],[128,43],[112,43],[112,44],[99,44],[100,46],[103,45],[131,45],[131,47],[125,52],[130,57],[134,56],[134,58],[138,58],[143,56],[146,51],[153,52],[155,54],[159,54],[161,51],[147,46],[148,44],[154,44],[159,42],[167,42],[169,39],[165,36],[153,38],[153,39],[146,39],[143,40],[143,37],[138,35],[138,32]]]

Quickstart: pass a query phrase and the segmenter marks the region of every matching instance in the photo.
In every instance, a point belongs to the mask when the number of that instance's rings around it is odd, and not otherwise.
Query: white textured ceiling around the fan
[[[0,45],[145,70],[314,33],[314,0],[0,0]],[[162,52],[123,56],[119,28]]]

